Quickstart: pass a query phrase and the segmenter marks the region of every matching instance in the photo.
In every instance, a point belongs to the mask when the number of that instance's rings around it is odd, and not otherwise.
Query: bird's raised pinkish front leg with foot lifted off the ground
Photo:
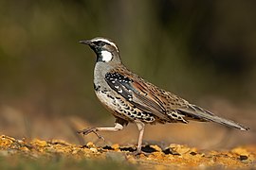
[[[87,135],[91,132],[93,132],[94,134],[96,134],[98,136],[98,138],[102,139],[103,141],[105,141],[105,139],[97,133],[97,131],[119,131],[123,128],[123,126],[119,123],[115,124],[115,127],[88,127],[88,128],[84,128],[82,130],[79,130],[78,133],[82,133],[82,135]]]

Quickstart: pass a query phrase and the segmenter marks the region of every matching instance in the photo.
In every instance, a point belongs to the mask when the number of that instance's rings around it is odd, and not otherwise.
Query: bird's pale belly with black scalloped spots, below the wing
[[[108,92],[96,91],[96,95],[108,110],[116,117],[129,122],[140,120],[145,123],[155,122],[155,117],[148,112],[138,110],[132,104],[123,101],[121,97],[115,97]]]

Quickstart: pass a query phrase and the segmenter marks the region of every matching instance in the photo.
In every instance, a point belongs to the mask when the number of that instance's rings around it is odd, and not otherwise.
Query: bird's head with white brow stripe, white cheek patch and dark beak
[[[118,46],[109,39],[105,38],[94,38],[91,40],[82,40],[80,43],[87,44],[97,55],[97,61],[110,62],[116,61],[121,62],[119,59],[119,48]]]

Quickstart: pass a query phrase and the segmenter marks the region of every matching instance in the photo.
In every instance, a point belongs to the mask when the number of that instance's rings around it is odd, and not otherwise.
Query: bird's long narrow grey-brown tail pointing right
[[[190,105],[188,108],[181,109],[180,111],[183,112],[186,116],[192,117],[193,120],[211,121],[211,122],[222,124],[222,125],[225,125],[228,127],[235,127],[240,130],[248,130],[249,129],[249,127],[246,127],[246,126],[236,123],[234,121],[216,116],[209,110],[204,110],[195,105]]]

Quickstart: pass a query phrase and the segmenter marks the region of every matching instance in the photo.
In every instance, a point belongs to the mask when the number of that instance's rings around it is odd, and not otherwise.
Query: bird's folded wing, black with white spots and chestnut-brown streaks
[[[160,99],[148,91],[147,84],[136,76],[112,71],[105,76],[108,85],[140,110],[151,112],[161,120],[170,120]]]

